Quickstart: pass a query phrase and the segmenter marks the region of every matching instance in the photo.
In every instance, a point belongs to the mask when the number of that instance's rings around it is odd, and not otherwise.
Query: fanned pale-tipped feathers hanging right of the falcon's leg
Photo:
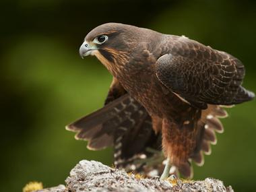
[[[197,129],[195,129],[195,131],[187,131],[187,133],[185,133],[185,135],[187,135],[183,139],[182,145],[186,146],[186,149],[182,150],[183,154],[181,154],[183,157],[180,156],[179,158],[187,160],[177,162],[177,160],[175,161],[172,159],[174,166],[171,169],[171,174],[178,174],[177,176],[182,174],[185,178],[193,177],[193,167],[191,162],[195,162],[197,166],[203,166],[203,155],[210,155],[212,152],[211,144],[215,145],[217,143],[215,133],[223,133],[224,131],[219,118],[227,116],[228,114],[226,113],[226,110],[223,109],[223,106],[218,105],[209,104],[207,109],[201,111],[201,118],[197,121],[197,125],[195,125],[197,126]],[[190,139],[187,139],[186,137]],[[184,142],[186,142],[185,145]],[[188,148],[193,148],[192,153]],[[177,150],[181,150],[181,147]],[[187,152],[187,154],[185,152]]]

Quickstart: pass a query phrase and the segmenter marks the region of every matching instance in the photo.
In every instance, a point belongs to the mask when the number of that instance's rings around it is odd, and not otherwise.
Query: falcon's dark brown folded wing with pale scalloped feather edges
[[[253,99],[241,86],[245,68],[228,53],[188,38],[174,38],[156,63],[156,75],[169,90],[198,108]]]

